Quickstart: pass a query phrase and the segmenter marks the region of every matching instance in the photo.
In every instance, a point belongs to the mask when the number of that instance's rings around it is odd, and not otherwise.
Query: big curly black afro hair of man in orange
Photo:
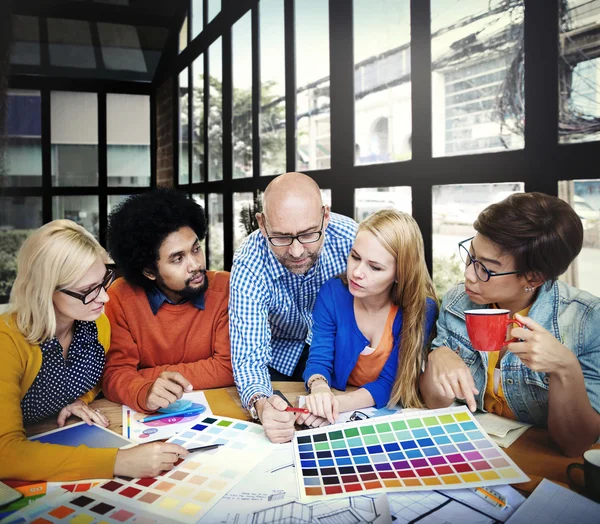
[[[204,239],[204,209],[183,193],[155,189],[133,195],[108,217],[108,252],[130,284],[150,289],[154,282],[143,270],[157,271],[160,246],[171,233],[186,226]]]

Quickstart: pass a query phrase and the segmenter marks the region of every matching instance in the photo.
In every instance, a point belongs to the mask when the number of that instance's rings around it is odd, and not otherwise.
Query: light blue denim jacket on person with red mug
[[[442,301],[437,336],[431,347],[447,346],[469,366],[478,409],[484,411],[488,354],[472,348],[464,311],[484,309],[465,293],[464,284],[454,287]],[[579,360],[592,407],[600,412],[600,299],[563,282],[545,284],[529,310],[529,318],[552,333]],[[510,351],[501,361],[502,389],[508,406],[518,420],[546,426],[548,421],[547,373],[532,371]]]

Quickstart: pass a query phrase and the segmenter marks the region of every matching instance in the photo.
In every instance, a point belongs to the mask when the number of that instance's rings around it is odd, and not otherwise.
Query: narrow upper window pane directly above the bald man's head
[[[296,169],[331,167],[329,94],[329,2],[295,4]]]

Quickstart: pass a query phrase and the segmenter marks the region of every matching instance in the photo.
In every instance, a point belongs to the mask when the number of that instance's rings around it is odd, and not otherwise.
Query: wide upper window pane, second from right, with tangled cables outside
[[[523,149],[523,10],[431,1],[434,157]]]

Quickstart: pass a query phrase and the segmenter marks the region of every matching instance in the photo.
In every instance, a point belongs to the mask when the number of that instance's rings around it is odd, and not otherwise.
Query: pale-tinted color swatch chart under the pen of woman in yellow
[[[271,451],[263,428],[226,417],[200,417],[198,424],[171,438],[184,448],[222,444],[190,454],[157,478],[116,478],[92,491],[118,505],[196,522]]]

